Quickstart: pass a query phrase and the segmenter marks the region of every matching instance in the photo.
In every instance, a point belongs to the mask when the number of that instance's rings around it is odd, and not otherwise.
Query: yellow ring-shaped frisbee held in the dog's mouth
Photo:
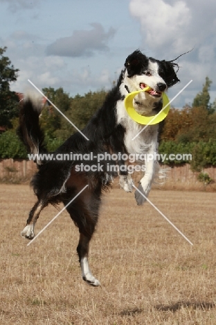
[[[134,119],[135,122],[140,123],[140,124],[148,124],[148,125],[153,125],[153,124],[157,124],[161,121],[163,121],[163,119],[165,119],[165,117],[167,117],[169,110],[170,110],[170,104],[169,104],[169,99],[168,96],[163,92],[162,94],[162,99],[163,99],[163,107],[160,110],[159,113],[157,113],[154,116],[143,116],[140,115],[136,112],[136,110],[134,109],[133,106],[133,99],[134,97],[139,94],[140,92],[146,92],[147,90],[150,90],[150,87],[146,87],[142,90],[138,90],[136,92],[130,92],[127,97],[125,97],[125,108],[127,110],[127,114],[129,115],[129,117],[131,117],[132,119]]]

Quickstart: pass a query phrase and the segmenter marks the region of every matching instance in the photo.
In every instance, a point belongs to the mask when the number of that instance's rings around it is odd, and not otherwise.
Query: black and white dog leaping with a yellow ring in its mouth
[[[134,122],[127,115],[124,99],[128,92],[141,90],[150,86],[148,92],[141,92],[134,98],[134,108],[140,115],[152,116],[161,110],[161,95],[179,79],[174,71],[178,66],[173,61],[147,58],[141,51],[134,51],[125,61],[125,69],[120,73],[118,82],[107,94],[102,107],[91,118],[82,133],[75,133],[55,151],[58,153],[153,153],[157,152],[159,124],[149,125],[134,138],[143,125]],[[41,104],[27,97],[21,108],[19,137],[26,144],[30,153],[46,153],[44,135],[39,127]],[[119,157],[119,156],[118,156]],[[111,185],[115,172],[105,169],[94,172],[77,171],[74,161],[38,160],[38,172],[33,176],[31,185],[37,195],[37,202],[30,210],[27,225],[21,235],[25,238],[34,237],[34,228],[42,209],[51,204],[63,202],[66,206],[85,185],[89,185],[66,210],[80,231],[78,256],[82,269],[82,278],[91,285],[99,285],[99,281],[91,274],[88,263],[89,242],[95,231],[101,203],[102,191]],[[84,164],[92,161],[82,160]],[[118,165],[124,160],[118,159]],[[108,163],[107,163],[108,164]],[[139,191],[145,196],[150,192],[154,179],[156,161],[145,162],[145,175],[141,178]],[[127,172],[120,172],[120,184],[127,191],[132,190],[132,180]],[[145,198],[135,192],[136,202],[141,205]]]

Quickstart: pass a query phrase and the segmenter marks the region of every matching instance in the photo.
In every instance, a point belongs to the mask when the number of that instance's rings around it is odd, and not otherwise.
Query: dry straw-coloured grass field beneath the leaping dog
[[[26,185],[0,185],[0,324],[215,325],[215,194],[153,190],[151,201],[193,247],[134,194],[105,195],[89,287],[76,255],[78,229],[66,212],[29,247],[19,233],[35,198]],[[56,215],[46,208],[36,233]]]

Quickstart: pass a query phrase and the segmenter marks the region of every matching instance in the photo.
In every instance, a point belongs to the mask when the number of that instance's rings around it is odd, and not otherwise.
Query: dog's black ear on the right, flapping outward
[[[179,68],[176,63],[172,63],[171,61],[160,61],[159,74],[167,84],[168,88],[180,81],[177,77],[177,72],[174,71],[174,67]]]

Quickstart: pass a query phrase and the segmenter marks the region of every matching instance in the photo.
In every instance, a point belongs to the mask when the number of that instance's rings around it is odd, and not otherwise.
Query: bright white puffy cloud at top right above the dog
[[[184,45],[188,45],[184,44],[184,37],[191,13],[185,2],[174,1],[170,5],[163,0],[132,0],[129,9],[140,21],[143,40],[151,49],[159,51],[171,43],[179,53]]]

